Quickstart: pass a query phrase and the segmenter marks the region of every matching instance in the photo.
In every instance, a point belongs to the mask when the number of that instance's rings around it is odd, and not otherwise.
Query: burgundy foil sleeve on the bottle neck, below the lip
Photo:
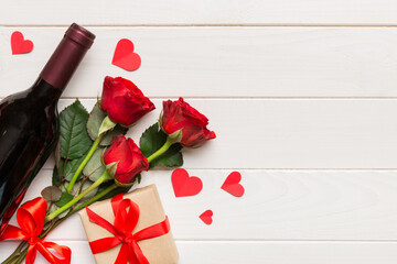
[[[87,51],[86,46],[65,35],[39,78],[61,91],[64,90]]]

